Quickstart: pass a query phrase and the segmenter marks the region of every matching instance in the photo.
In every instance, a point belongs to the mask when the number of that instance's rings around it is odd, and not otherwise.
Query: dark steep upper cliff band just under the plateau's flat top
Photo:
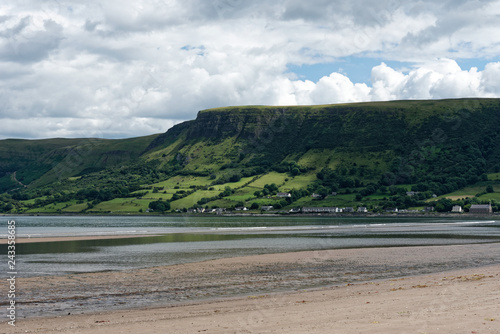
[[[463,141],[464,133],[479,145],[484,135],[497,135],[499,111],[496,99],[218,108],[173,127],[153,146],[233,137],[247,151],[280,157],[311,148],[404,152]]]

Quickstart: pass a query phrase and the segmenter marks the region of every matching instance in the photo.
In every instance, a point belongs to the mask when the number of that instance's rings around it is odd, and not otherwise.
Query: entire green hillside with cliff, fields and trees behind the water
[[[421,207],[466,187],[494,194],[499,129],[499,99],[455,99],[226,107],[148,137],[3,140],[0,209]]]

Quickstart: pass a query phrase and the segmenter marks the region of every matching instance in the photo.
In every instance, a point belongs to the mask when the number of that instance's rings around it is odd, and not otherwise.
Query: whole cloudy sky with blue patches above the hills
[[[6,0],[0,139],[128,138],[199,110],[500,97],[500,0]]]

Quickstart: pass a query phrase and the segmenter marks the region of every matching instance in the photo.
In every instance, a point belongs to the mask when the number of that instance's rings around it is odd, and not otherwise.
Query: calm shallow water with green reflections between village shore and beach
[[[18,244],[18,276],[146,268],[223,257],[500,242],[500,221],[465,218],[0,217],[17,237],[151,235]],[[7,246],[0,245],[7,254]],[[7,261],[5,261],[7,262]]]

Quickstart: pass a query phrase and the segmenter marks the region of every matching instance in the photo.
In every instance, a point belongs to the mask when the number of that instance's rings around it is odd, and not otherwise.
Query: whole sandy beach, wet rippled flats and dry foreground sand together
[[[472,254],[473,260],[499,249],[483,244],[309,251],[24,278],[18,281],[16,327],[4,322],[0,332],[500,333],[500,265],[424,268],[439,258]],[[401,277],[401,267],[418,263],[431,272]],[[141,306],[119,309],[129,302]],[[59,315],[49,311],[54,303]],[[40,307],[45,316],[31,317]]]

